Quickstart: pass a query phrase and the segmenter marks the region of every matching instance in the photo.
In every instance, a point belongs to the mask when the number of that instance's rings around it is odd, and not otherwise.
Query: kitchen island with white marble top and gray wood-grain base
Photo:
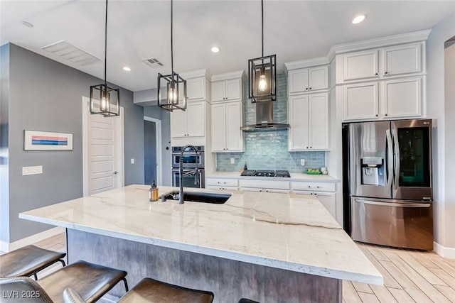
[[[130,185],[19,216],[67,228],[69,263],[127,270],[130,285],[147,276],[210,290],[214,302],[341,302],[341,280],[383,282],[309,195],[232,192],[225,204],[178,204],[149,202],[149,186]]]

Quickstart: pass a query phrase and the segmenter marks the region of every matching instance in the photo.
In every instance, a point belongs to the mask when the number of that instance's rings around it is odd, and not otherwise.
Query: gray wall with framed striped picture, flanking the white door
[[[9,237],[11,243],[53,227],[18,219],[20,212],[82,197],[82,96],[88,97],[90,85],[102,80],[16,45],[9,47],[9,200],[1,200],[2,207],[9,204],[9,231],[2,229],[1,239]],[[125,184],[141,184],[143,109],[133,104],[132,92],[121,89],[120,97]],[[24,130],[73,133],[73,150],[24,151]],[[31,165],[43,165],[43,174],[22,176],[21,167]]]

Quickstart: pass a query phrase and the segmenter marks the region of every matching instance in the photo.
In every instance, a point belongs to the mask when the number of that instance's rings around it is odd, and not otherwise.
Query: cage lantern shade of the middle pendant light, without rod
[[[163,88],[166,87],[166,96]],[[158,74],[158,106],[168,111],[186,109],[186,80],[173,72],[171,75]]]

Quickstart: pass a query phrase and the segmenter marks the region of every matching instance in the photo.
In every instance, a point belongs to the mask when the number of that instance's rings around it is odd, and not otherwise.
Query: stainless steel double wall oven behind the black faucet
[[[180,161],[181,150],[183,146],[173,146],[172,148],[172,186],[180,186],[180,172],[178,166]],[[205,174],[204,174],[204,147],[196,146],[198,153],[194,150],[188,149],[183,153],[183,174],[195,170],[196,164],[198,165],[198,184],[194,184],[194,175],[183,176],[183,187],[205,187]]]

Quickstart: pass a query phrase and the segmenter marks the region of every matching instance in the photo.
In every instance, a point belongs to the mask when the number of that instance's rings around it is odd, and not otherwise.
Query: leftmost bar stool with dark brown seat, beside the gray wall
[[[35,276],[44,268],[60,262],[65,266],[66,253],[39,248],[38,246],[24,246],[4,255],[0,255],[0,277]]]

